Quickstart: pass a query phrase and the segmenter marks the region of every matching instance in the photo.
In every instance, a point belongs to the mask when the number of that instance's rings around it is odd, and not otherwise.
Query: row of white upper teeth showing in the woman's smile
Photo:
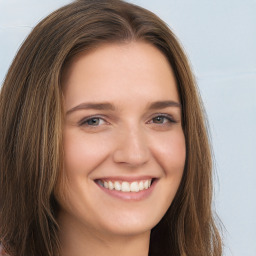
[[[104,188],[110,190],[115,189],[122,192],[139,192],[141,190],[148,189],[151,185],[151,182],[152,179],[144,181],[133,181],[131,183],[127,181],[98,181],[98,183]]]

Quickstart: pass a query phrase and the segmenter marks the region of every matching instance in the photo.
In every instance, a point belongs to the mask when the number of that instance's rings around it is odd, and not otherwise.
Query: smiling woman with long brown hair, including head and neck
[[[188,61],[154,14],[79,0],[40,22],[0,97],[9,255],[221,255]]]

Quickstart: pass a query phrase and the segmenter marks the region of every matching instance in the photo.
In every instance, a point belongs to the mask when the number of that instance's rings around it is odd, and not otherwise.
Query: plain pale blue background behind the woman
[[[68,0],[0,0],[0,82],[36,23]],[[208,113],[226,256],[256,256],[256,1],[131,0],[180,38]]]

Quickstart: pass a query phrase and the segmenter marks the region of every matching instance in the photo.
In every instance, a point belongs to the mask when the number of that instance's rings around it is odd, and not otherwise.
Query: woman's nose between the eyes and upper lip
[[[139,127],[130,127],[119,132],[113,160],[130,167],[139,167],[148,162],[150,150],[146,142],[145,132]]]

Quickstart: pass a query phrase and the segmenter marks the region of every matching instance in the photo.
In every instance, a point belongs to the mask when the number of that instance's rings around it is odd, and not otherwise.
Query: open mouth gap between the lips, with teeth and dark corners
[[[110,191],[139,193],[140,191],[148,190],[152,184],[156,181],[156,178],[148,178],[143,180],[112,180],[112,179],[96,179],[95,182],[102,188]]]

